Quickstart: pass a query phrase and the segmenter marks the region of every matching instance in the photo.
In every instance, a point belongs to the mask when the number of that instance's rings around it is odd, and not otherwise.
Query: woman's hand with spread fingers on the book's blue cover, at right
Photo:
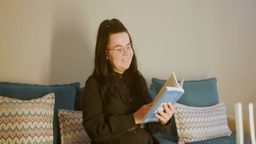
[[[158,118],[162,124],[166,124],[169,121],[169,119],[172,117],[173,105],[171,104],[171,102],[168,102],[168,106],[167,104],[164,104],[164,109],[165,109],[165,112],[158,109],[158,113],[160,115],[155,114],[155,117]]]

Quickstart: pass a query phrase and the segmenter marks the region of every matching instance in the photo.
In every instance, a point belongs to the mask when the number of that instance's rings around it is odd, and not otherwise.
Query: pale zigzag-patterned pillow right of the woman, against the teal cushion
[[[188,143],[230,136],[224,103],[210,107],[174,104],[178,143]]]

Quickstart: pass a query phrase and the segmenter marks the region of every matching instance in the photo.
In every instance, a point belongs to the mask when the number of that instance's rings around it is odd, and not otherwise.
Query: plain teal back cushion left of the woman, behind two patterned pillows
[[[54,142],[61,143],[60,139],[60,125],[57,117],[58,109],[74,110],[75,97],[78,94],[80,83],[70,83],[65,85],[32,85],[27,83],[11,83],[0,82],[0,95],[9,98],[16,98],[21,100],[30,100],[34,98],[43,97],[48,93],[55,94],[53,132]]]

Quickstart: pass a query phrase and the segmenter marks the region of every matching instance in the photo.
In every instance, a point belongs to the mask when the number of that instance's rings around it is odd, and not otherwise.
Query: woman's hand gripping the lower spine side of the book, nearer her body
[[[142,118],[145,116],[145,114],[148,112],[151,106],[152,106],[152,103],[143,105],[140,109],[138,109],[135,113],[133,113],[133,117],[135,119],[136,124],[142,123]]]

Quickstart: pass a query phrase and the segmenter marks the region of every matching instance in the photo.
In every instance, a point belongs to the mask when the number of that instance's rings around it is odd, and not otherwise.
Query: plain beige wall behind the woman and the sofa
[[[228,115],[234,115],[238,101],[256,105],[253,0],[3,0],[0,81],[79,81],[84,86],[93,69],[97,28],[113,17],[129,29],[148,84],[152,77],[166,79],[172,71],[178,79],[217,77],[219,99],[226,103]]]

